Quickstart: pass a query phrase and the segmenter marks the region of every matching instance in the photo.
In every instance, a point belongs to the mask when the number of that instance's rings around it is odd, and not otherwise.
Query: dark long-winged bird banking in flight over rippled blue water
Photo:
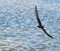
[[[37,10],[37,6],[35,5],[35,16],[36,16],[36,19],[37,19],[37,22],[38,22],[38,28],[41,28],[43,31],[44,31],[44,33],[47,35],[47,36],[49,36],[50,38],[53,38],[49,33],[47,33],[47,31],[44,29],[44,26],[42,25],[42,23],[41,23],[41,20],[40,20],[40,18],[39,18],[39,14],[38,14],[38,10]]]

